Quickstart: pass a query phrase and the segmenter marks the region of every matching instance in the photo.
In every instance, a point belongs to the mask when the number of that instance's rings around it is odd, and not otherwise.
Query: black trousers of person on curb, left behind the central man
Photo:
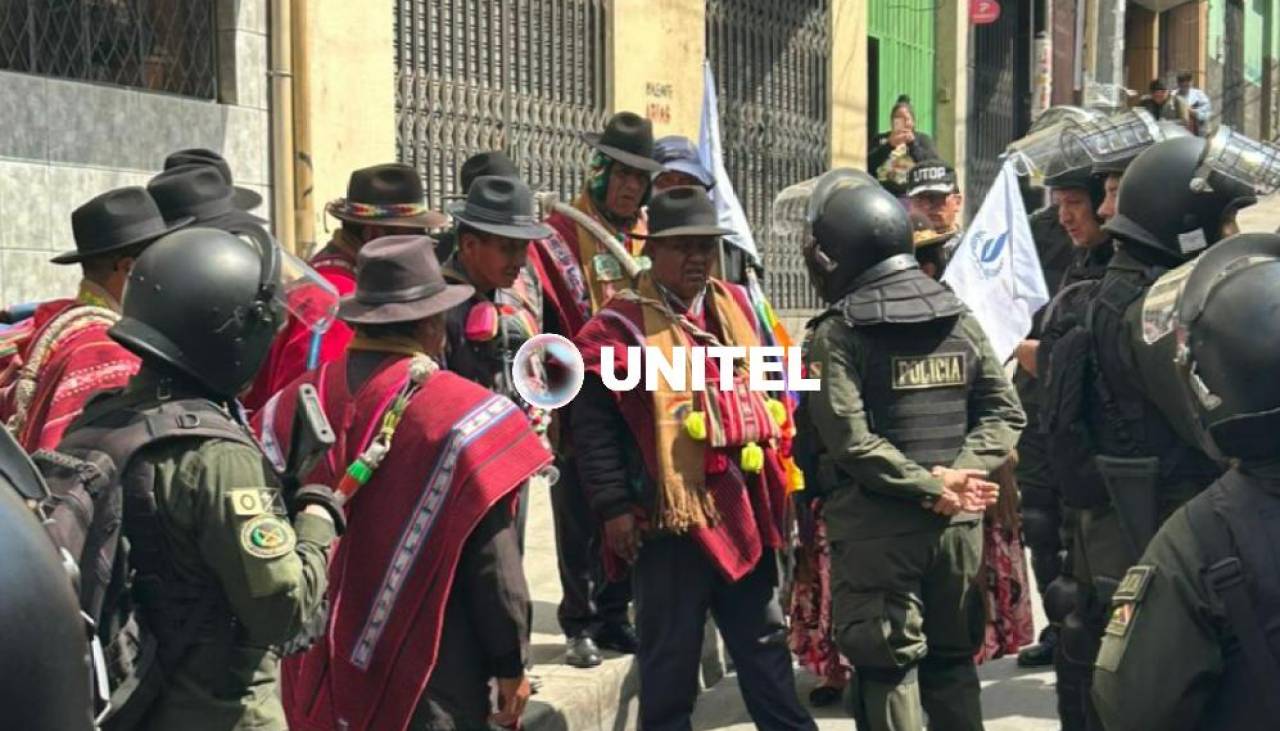
[[[558,458],[559,480],[552,485],[552,517],[556,521],[556,558],[559,561],[561,599],[557,617],[564,635],[590,635],[605,625],[628,623],[631,581],[604,580],[600,559],[600,530],[586,504],[572,460]]]

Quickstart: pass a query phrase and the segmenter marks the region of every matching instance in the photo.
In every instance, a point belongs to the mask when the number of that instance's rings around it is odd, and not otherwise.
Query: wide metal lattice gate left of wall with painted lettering
[[[428,200],[457,195],[462,163],[504,150],[535,189],[568,198],[581,134],[605,108],[607,0],[396,0],[399,160]]]

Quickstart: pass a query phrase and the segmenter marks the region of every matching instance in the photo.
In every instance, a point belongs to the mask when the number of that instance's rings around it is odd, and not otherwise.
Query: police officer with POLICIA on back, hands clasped
[[[828,493],[832,623],[855,667],[859,728],[982,728],[986,476],[1024,416],[978,321],[913,255],[896,198],[828,173],[809,202],[805,259],[829,309],[806,356],[799,437]],[[924,627],[928,627],[925,635]]]

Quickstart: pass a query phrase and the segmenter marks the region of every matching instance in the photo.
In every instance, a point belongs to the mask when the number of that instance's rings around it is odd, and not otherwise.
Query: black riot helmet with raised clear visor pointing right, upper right
[[[1203,155],[1199,137],[1165,140],[1138,155],[1120,179],[1106,230],[1166,262],[1187,261],[1217,243],[1222,223],[1257,197],[1252,186],[1216,173],[1211,191],[1196,192],[1192,181]]]

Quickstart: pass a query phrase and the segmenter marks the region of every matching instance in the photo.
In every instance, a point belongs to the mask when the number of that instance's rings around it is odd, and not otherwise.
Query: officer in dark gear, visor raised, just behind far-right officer
[[[1039,353],[1050,457],[1076,517],[1078,595],[1059,649],[1060,680],[1073,679],[1066,690],[1079,698],[1068,703],[1060,690],[1068,730],[1098,727],[1088,685],[1112,591],[1164,517],[1220,474],[1161,414],[1158,402],[1169,394],[1135,374],[1130,346],[1143,330],[1142,297],[1151,284],[1234,233],[1235,211],[1256,201],[1252,187],[1221,175],[1193,189],[1203,159],[1204,142],[1185,137],[1157,142],[1133,161],[1105,227],[1116,252],[1089,291],[1084,316]]]

